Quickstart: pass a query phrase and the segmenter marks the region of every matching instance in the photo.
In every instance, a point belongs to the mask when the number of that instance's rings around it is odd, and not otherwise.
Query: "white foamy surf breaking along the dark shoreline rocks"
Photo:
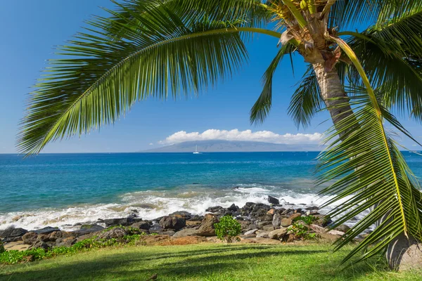
[[[65,230],[75,230],[78,228],[75,226],[76,223],[94,223],[98,218],[120,218],[134,213],[147,220],[165,216],[174,211],[205,214],[207,208],[214,206],[226,208],[231,204],[243,207],[246,202],[267,203],[268,195],[281,200],[281,204],[301,206],[320,205],[329,198],[318,199],[312,193],[301,193],[275,185],[238,184],[236,188],[226,189],[203,188],[194,185],[177,190],[131,192],[122,195],[119,202],[115,204],[0,214],[0,229],[13,226],[33,230],[53,226]],[[324,211],[328,211],[328,209]]]

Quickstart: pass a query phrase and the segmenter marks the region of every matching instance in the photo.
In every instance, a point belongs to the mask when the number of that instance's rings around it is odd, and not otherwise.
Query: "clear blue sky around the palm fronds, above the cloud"
[[[53,46],[71,39],[91,15],[104,15],[101,6],[112,8],[113,4],[109,0],[0,1],[3,37],[0,44],[0,153],[15,152],[15,136],[27,93],[46,66],[46,59],[54,57]],[[219,84],[217,89],[210,89],[199,98],[151,99],[137,103],[114,126],[103,127],[101,132],[81,138],[75,136],[52,143],[43,152],[134,152],[155,148],[160,141],[179,131],[202,133],[208,129],[271,131],[280,135],[323,133],[331,126],[330,121],[325,122],[329,118],[327,112],[316,116],[306,131],[296,128],[287,115],[295,83],[305,70],[298,55],[294,58],[295,77],[288,58],[276,72],[274,106],[267,121],[260,126],[250,125],[249,110],[260,95],[260,79],[276,54],[276,44],[277,39],[272,37],[256,37],[248,44],[248,65],[232,81]],[[401,121],[422,141],[420,124],[409,119]],[[414,149],[410,141],[403,143]]]

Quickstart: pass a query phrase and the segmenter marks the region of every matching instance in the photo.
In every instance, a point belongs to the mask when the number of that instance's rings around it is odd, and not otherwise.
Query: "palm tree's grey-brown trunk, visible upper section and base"
[[[331,71],[326,71],[323,64],[314,64],[316,79],[321,89],[321,97],[326,104],[328,112],[336,129],[340,129],[342,120],[347,117],[354,118],[349,98],[341,83],[340,77],[335,67]],[[347,133],[353,131],[349,128],[340,133],[340,139],[347,137]],[[422,268],[422,245],[418,244],[413,237],[409,239],[404,235],[399,235],[388,246],[385,254],[390,268],[407,270],[409,268]]]

